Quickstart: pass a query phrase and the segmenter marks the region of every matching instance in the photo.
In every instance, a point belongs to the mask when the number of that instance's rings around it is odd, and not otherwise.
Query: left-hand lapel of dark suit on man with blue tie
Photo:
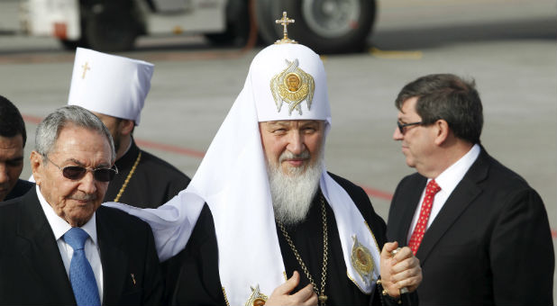
[[[49,288],[52,297],[57,297],[56,303],[76,304],[58,244],[34,188],[23,196],[17,232],[19,239],[15,247],[21,249],[29,271]]]

